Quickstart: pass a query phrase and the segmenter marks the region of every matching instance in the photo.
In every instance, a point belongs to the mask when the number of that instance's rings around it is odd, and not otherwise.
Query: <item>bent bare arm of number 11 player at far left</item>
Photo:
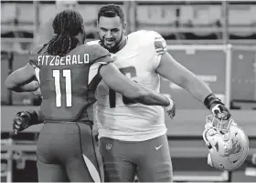
[[[27,64],[7,76],[5,86],[16,92],[35,91],[38,88],[38,83],[33,81],[34,78],[35,69],[30,64]]]

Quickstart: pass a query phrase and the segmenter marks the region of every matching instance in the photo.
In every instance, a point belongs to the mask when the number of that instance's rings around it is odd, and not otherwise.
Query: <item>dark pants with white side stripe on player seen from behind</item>
[[[39,182],[100,182],[101,155],[91,126],[44,124],[37,142],[37,172]]]

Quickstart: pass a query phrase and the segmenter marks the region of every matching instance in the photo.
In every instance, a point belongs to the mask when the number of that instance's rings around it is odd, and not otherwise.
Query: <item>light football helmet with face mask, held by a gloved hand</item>
[[[247,158],[249,139],[233,119],[207,117],[203,138],[208,147],[208,165],[221,170],[239,168]]]

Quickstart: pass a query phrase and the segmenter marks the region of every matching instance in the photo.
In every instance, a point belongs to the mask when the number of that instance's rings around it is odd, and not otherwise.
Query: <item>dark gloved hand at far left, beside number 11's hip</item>
[[[13,121],[13,130],[15,134],[17,134],[18,131],[23,131],[24,129],[29,127],[29,121],[30,115],[27,112],[18,112]]]

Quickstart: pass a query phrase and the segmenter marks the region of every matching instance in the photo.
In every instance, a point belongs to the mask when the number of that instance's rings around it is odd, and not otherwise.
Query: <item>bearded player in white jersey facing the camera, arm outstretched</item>
[[[125,36],[126,23],[118,5],[103,5],[98,14],[100,44],[113,53],[114,64],[134,82],[157,92],[160,76],[185,88],[210,111],[228,119],[229,110],[210,88],[166,51],[165,39],[154,31]],[[99,127],[106,182],[171,182],[172,162],[164,110],[134,103],[101,82],[97,88],[95,120]],[[17,126],[17,124],[16,124]]]

